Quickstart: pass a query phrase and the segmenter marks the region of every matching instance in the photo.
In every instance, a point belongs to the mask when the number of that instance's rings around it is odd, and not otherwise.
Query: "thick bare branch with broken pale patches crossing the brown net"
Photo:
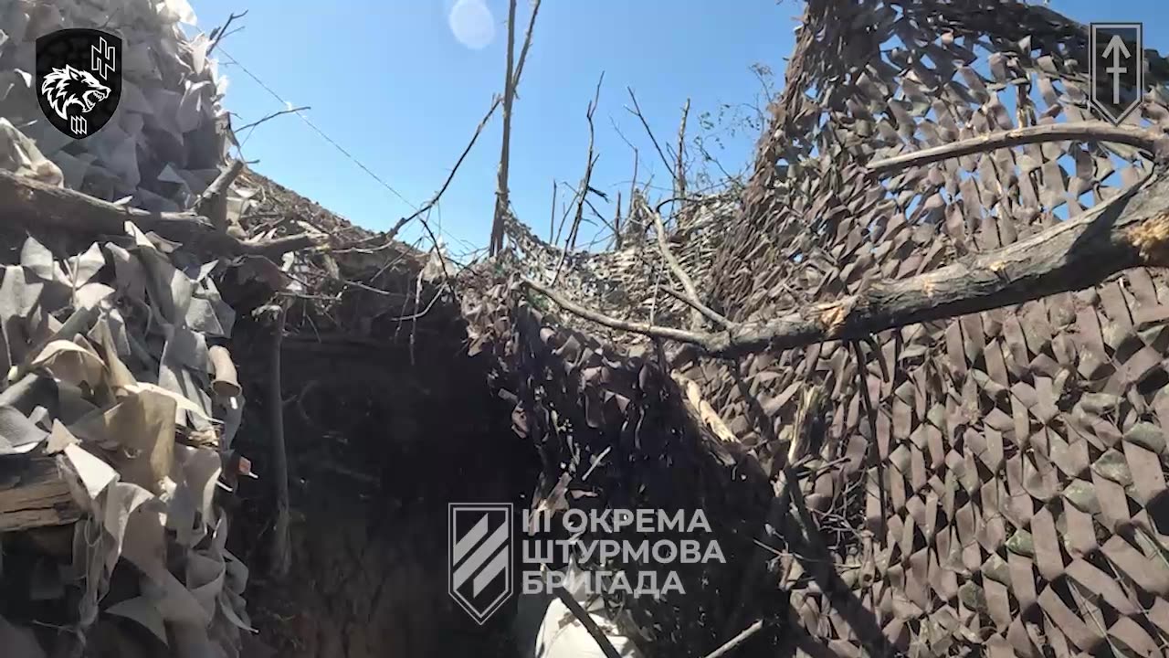
[[[1169,173],[1153,174],[1084,215],[1007,247],[974,254],[909,279],[797,308],[780,317],[708,334],[608,317],[530,280],[565,310],[611,329],[691,343],[708,355],[739,355],[870,334],[1081,290],[1134,267],[1169,266]]]

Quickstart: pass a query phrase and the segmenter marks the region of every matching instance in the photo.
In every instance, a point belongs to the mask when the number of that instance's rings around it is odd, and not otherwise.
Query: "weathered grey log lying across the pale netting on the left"
[[[278,256],[323,244],[323,238],[299,234],[275,240],[244,241],[216,228],[206,217],[189,212],[151,212],[103,201],[64,187],[0,171],[0,213],[4,222],[35,228],[67,228],[83,234],[122,235],[125,222],[154,232],[188,248],[219,255]]]

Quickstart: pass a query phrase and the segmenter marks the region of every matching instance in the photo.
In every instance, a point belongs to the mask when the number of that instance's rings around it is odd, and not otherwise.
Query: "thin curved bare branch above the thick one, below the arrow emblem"
[[[953,144],[943,144],[933,149],[924,149],[881,160],[869,163],[869,171],[886,173],[900,171],[914,165],[927,165],[940,160],[969,156],[995,149],[1022,146],[1024,144],[1042,144],[1045,142],[1115,142],[1144,149],[1161,160],[1169,156],[1169,137],[1140,128],[1112,125],[1104,122],[1054,123],[1032,125],[1017,130],[991,132]]]

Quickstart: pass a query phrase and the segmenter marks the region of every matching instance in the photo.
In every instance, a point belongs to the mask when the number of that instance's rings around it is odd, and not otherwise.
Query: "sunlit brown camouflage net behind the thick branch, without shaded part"
[[[1149,170],[1134,150],[1071,143],[880,181],[863,171],[870,157],[1095,118],[1086,50],[1085,27],[1045,7],[810,2],[715,295],[741,316],[830,300],[1011,244],[1134,183]],[[1160,61],[1148,77],[1164,82]],[[1129,121],[1167,119],[1158,89]],[[871,416],[849,345],[755,357],[779,375],[758,393],[776,426],[790,386],[829,391],[824,457],[857,459],[804,482],[809,507],[837,512],[863,480],[856,594],[900,650],[1164,651],[1167,294],[1158,273],[1139,269],[1094,290],[886,331],[879,350],[862,348]],[[724,417],[743,413],[724,375],[706,391]],[[837,653],[867,644],[815,588],[793,605]]]

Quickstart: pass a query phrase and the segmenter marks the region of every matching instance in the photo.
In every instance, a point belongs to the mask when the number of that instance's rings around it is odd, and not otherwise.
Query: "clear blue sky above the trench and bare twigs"
[[[463,5],[456,9],[456,4]],[[470,6],[471,4],[476,6]],[[503,87],[506,0],[192,0],[199,27],[210,30],[230,12],[247,9],[244,29],[221,46],[221,73],[230,78],[227,108],[243,125],[282,109],[245,71],[293,105],[365,164],[394,192],[358,167],[296,116],[265,123],[247,137],[243,153],[256,170],[351,221],[386,229],[422,205],[445,179]],[[485,6],[490,20],[483,16]],[[1082,21],[1143,21],[1146,46],[1165,52],[1169,9],[1162,2],[1052,0],[1052,8]],[[293,8],[303,7],[303,8]],[[480,19],[461,26],[450,16]],[[638,180],[669,197],[665,170],[644,129],[625,107],[631,87],[663,148],[677,140],[682,105],[691,98],[690,130],[698,116],[720,104],[741,111],[754,105],[760,81],[754,63],[769,66],[782,84],[784,59],[794,43],[794,0],[545,0],[512,118],[512,205],[539,234],[548,232],[553,179],[575,185],[584,169],[588,128],[584,109],[604,73],[595,114],[593,186],[615,200],[628,196],[632,151]],[[528,0],[518,16],[527,25]],[[468,27],[469,26],[469,27]],[[492,29],[493,28],[493,29]],[[493,35],[491,34],[493,32]],[[521,35],[517,36],[517,52]],[[712,146],[727,170],[741,170],[758,133],[734,136],[721,128],[722,149]],[[487,241],[494,204],[502,122],[497,112],[443,196],[431,221],[441,225],[451,252]],[[396,194],[395,194],[396,192]],[[400,194],[401,197],[399,197]],[[558,199],[570,192],[561,187]],[[402,198],[406,200],[403,201]],[[411,205],[413,204],[413,205]],[[611,217],[613,205],[596,203]],[[558,213],[559,220],[559,213]],[[593,234],[582,228],[582,242]],[[417,239],[421,227],[403,231]]]

